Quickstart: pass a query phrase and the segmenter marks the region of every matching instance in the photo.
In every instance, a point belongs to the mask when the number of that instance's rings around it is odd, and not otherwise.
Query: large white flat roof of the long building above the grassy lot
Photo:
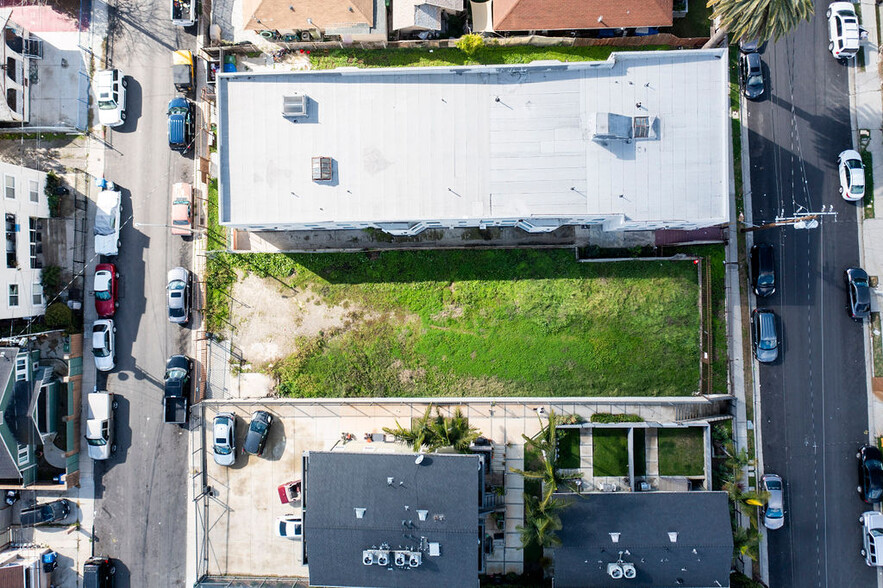
[[[305,94],[308,116],[284,118]],[[221,221],[234,226],[623,214],[727,220],[725,49],[605,62],[220,76]],[[657,140],[592,140],[596,113]],[[311,160],[333,159],[330,182]]]

